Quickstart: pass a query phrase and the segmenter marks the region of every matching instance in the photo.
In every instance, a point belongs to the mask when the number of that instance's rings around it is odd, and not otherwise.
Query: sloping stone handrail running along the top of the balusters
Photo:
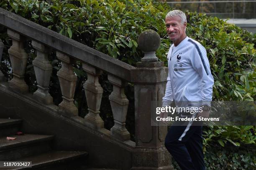
[[[10,13],[2,8],[0,8],[0,21],[1,25],[21,35],[25,35],[32,40],[36,40],[37,42],[70,55],[78,60],[90,63],[90,65],[120,77],[123,80],[131,81],[130,70],[134,67],[125,62],[116,60],[109,55],[33,23],[30,20]]]

